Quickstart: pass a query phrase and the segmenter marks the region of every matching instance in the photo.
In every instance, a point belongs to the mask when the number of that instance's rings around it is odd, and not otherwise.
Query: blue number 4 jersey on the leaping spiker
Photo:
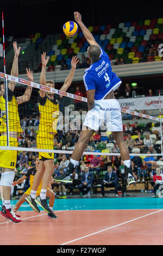
[[[122,83],[120,78],[112,72],[109,56],[102,48],[100,59],[85,70],[83,80],[86,90],[95,89],[95,100],[104,99]]]

